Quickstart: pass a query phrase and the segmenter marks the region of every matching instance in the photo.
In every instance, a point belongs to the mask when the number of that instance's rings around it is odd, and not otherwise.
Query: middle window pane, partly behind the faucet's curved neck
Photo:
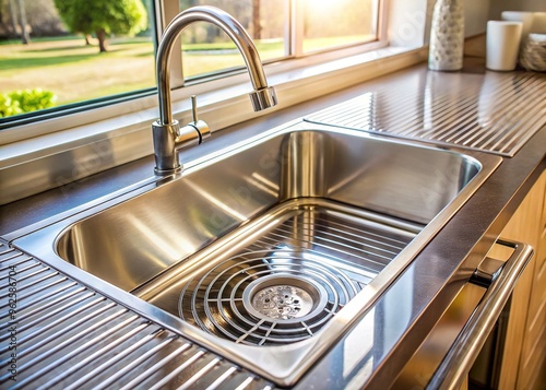
[[[285,57],[285,31],[289,23],[286,0],[180,0],[180,10],[214,5],[234,16],[252,37],[262,61]],[[182,34],[182,68],[186,79],[242,67],[235,44],[218,27],[194,23]]]

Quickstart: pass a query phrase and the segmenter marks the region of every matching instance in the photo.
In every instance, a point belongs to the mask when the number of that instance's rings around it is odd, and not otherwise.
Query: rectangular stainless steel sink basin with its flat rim
[[[501,161],[465,153],[296,122],[15,244],[288,386]]]

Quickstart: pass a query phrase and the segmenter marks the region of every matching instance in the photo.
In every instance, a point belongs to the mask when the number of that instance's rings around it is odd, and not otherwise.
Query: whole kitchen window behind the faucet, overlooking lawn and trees
[[[379,39],[380,0],[11,0],[0,2],[0,129],[155,93],[161,21],[210,4],[249,32],[273,62]],[[159,7],[159,9],[156,9]],[[100,23],[93,24],[94,15]],[[116,19],[114,15],[123,15]],[[23,44],[27,40],[26,44]],[[242,67],[210,24],[185,31],[174,76],[202,82]],[[180,79],[181,80],[181,79]],[[176,84],[174,84],[176,85]]]

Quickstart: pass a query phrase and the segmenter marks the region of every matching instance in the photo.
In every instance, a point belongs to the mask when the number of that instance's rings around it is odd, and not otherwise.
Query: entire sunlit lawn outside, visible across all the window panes
[[[361,39],[361,37],[359,37]],[[354,40],[337,37],[305,42],[306,49]],[[257,42],[262,60],[284,56],[280,40]],[[210,73],[244,64],[230,43],[185,45],[185,75]],[[108,52],[97,45],[85,46],[83,37],[33,39],[0,44],[0,93],[43,88],[57,95],[63,105],[106,95],[155,86],[154,47],[147,38],[118,38],[108,42]]]

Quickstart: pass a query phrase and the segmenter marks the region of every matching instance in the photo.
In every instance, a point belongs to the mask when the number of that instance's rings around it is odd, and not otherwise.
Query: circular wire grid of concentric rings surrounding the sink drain
[[[328,262],[292,250],[253,251],[188,282],[179,315],[242,344],[272,345],[317,333],[359,291]]]

